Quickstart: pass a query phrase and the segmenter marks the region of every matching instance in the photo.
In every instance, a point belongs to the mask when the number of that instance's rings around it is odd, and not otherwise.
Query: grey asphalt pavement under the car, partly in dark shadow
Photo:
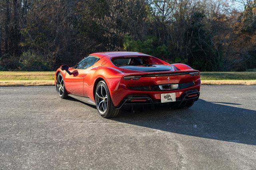
[[[0,87],[0,169],[256,167],[256,86],[202,86],[190,109],[123,111]]]

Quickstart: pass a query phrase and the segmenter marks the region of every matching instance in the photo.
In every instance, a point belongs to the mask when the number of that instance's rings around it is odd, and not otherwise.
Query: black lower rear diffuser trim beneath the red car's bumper
[[[178,104],[181,105],[187,101],[197,101],[200,96],[198,90],[189,90],[184,92],[179,98],[176,98],[176,102],[161,103],[161,100],[153,100],[147,95],[131,95],[127,96],[118,106],[117,109],[121,109],[124,105],[152,105],[155,104]]]

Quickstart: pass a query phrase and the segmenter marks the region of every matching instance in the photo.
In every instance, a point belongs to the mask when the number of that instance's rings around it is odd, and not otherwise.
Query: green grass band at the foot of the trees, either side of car
[[[0,71],[0,81],[54,80],[55,72]],[[256,80],[256,72],[201,72],[201,80]]]

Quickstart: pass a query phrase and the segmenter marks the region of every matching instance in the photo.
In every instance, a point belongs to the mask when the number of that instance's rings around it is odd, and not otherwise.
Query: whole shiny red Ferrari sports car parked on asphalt
[[[105,118],[117,116],[124,105],[191,107],[199,98],[200,84],[198,70],[136,52],[93,53],[55,73],[61,98],[95,105]]]

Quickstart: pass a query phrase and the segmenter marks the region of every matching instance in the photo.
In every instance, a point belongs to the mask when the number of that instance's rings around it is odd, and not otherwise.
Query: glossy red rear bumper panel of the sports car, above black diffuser
[[[108,87],[110,90],[110,96],[115,107],[120,107],[125,100],[129,97],[146,97],[150,98],[153,103],[160,103],[161,94],[175,93],[176,101],[182,100],[184,94],[191,90],[200,91],[200,76],[190,76],[190,74],[181,76],[159,76],[159,77],[142,77],[140,80],[124,80],[123,78],[108,79]],[[190,86],[183,86],[187,83],[193,82]],[[176,90],[160,90],[160,89],[146,89],[136,90],[130,87],[144,87],[144,86],[159,86],[164,84],[179,84],[179,88]],[[144,99],[143,99],[144,100]]]

